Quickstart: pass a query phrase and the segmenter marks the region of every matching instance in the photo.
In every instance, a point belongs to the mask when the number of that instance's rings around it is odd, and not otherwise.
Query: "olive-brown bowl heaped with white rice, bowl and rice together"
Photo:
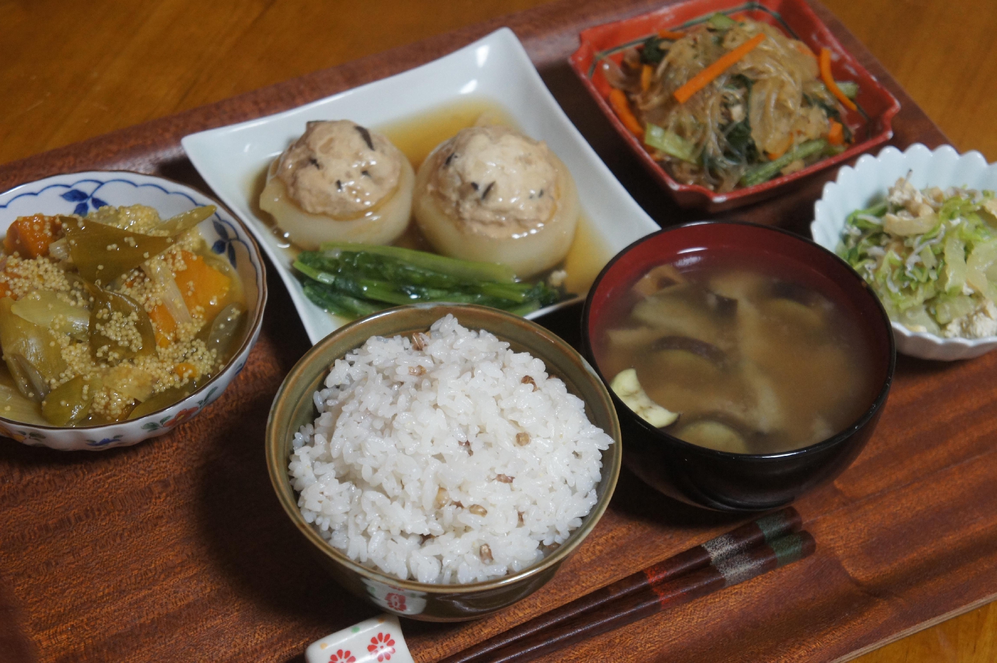
[[[312,347],[274,399],[266,455],[339,583],[428,621],[490,614],[549,580],[605,511],[622,456],[609,393],[564,340],[439,304]]]

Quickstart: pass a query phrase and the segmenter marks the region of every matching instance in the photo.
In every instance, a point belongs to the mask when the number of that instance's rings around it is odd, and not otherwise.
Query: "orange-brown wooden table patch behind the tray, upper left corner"
[[[538,4],[0,0],[0,163]]]

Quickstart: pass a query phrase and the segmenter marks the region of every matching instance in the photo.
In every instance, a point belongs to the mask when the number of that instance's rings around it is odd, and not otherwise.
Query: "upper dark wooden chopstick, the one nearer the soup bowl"
[[[460,651],[440,663],[473,663],[490,652],[512,645],[537,633],[545,632],[547,629],[568,620],[574,620],[579,615],[591,612],[607,603],[685,573],[708,567],[711,564],[720,564],[740,553],[774,542],[787,534],[798,531],[801,526],[800,514],[793,507],[764,516],[727,534],[711,539],[705,544],[685,552],[679,552],[648,566],[644,570],[591,591],[580,598],[503,631],[484,642]]]

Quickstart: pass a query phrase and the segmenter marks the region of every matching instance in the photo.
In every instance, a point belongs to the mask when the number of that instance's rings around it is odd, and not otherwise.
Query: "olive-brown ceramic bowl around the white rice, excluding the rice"
[[[564,381],[567,390],[585,403],[585,413],[613,443],[601,452],[601,479],[596,503],[567,540],[539,561],[498,578],[466,584],[436,584],[402,580],[351,559],[328,544],[298,508],[298,496],[288,478],[294,433],[316,416],[314,393],[335,359],[362,345],[370,336],[409,335],[427,331],[453,314],[471,330],[487,330],[508,341],[514,351],[542,359],[548,374]],[[529,595],[549,580],[581,544],[605,512],[619,476],[622,453],[619,422],[606,387],[595,371],[564,340],[538,325],[511,314],[471,305],[421,304],[374,314],[326,336],[291,369],[277,392],[266,429],[266,463],[277,498],[298,532],[312,545],[320,563],[345,588],[379,608],[426,621],[461,621],[482,617]]]

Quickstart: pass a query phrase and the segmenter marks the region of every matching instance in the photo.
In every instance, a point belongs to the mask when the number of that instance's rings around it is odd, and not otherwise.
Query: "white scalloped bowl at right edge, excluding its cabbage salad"
[[[875,156],[858,157],[854,166],[843,166],[837,171],[837,179],[824,185],[821,199],[814,204],[811,224],[814,241],[833,251],[848,214],[882,200],[897,178],[908,172],[910,182],[918,189],[927,186],[997,189],[997,163],[988,164],[975,150],[959,154],[951,145],[930,150],[919,142],[903,152],[896,147],[884,147]],[[922,359],[969,359],[997,347],[997,336],[944,338],[910,331],[898,323],[893,323],[893,336],[898,352]]]

